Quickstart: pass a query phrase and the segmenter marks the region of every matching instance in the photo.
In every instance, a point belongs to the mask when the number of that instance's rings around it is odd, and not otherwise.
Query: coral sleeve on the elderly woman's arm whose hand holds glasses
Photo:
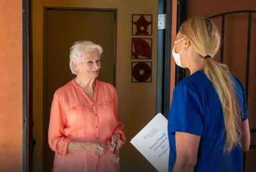
[[[117,92],[115,90],[115,88],[113,88],[113,93],[114,93],[114,98],[115,98],[115,104],[114,104],[114,113],[115,113],[115,116],[116,116],[116,121],[117,121],[117,126],[113,132],[113,135],[116,134],[116,133],[119,133],[120,134],[120,139],[122,139],[123,141],[123,144],[125,143],[125,136],[124,136],[124,123],[120,123],[119,121],[119,114],[118,114],[118,97],[117,97]]]

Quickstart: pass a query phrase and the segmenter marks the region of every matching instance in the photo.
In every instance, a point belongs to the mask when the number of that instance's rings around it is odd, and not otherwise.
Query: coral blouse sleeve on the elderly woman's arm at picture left
[[[61,98],[54,94],[48,130],[48,142],[52,151],[65,155],[71,139],[65,137],[66,115]]]

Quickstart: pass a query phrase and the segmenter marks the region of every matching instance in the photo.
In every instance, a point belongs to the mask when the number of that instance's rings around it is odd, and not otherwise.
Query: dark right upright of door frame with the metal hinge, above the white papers
[[[165,29],[157,31],[156,114],[168,119],[170,110],[173,1],[159,0],[158,15],[165,14]]]

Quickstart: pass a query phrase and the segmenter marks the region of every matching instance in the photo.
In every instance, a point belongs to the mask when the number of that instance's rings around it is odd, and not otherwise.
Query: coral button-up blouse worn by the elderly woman
[[[93,101],[74,79],[54,93],[49,123],[49,146],[55,152],[53,171],[119,171],[109,156],[108,142],[120,133],[125,142],[124,124],[118,121],[118,98],[111,84],[95,80]],[[70,141],[95,141],[108,149],[103,155],[80,151],[67,153]]]

